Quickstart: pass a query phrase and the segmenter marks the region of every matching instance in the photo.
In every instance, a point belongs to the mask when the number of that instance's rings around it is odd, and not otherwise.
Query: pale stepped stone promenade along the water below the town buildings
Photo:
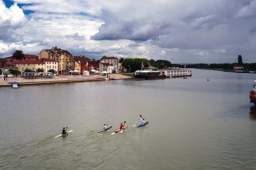
[[[47,83],[65,83],[65,82],[81,82],[81,81],[98,81],[105,80],[107,76],[103,75],[72,75],[72,76],[53,76],[53,78],[11,78],[9,77],[7,81],[4,81],[4,78],[0,77],[0,86],[12,86],[9,82],[20,82],[19,85],[27,85],[27,84],[47,84]],[[110,80],[115,79],[126,79],[131,78],[129,76],[121,75],[121,74],[111,74],[109,75]]]

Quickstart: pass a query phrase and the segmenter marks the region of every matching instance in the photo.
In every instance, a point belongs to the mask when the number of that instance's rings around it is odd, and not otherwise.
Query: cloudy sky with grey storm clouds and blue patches
[[[0,58],[57,46],[92,59],[256,62],[256,0],[0,0]]]

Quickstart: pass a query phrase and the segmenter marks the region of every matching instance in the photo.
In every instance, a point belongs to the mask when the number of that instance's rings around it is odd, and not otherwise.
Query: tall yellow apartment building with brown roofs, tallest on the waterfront
[[[58,72],[59,74],[68,74],[70,70],[74,70],[74,57],[67,50],[62,50],[57,48],[57,46],[51,48],[50,50],[42,50],[38,54],[38,59],[48,58],[56,60],[58,62]]]

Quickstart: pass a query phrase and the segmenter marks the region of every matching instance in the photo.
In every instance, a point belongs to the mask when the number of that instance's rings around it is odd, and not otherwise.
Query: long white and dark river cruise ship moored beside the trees
[[[156,78],[172,78],[172,77],[187,77],[191,76],[191,70],[181,69],[179,67],[166,67],[163,69],[158,69],[156,67],[144,67],[141,70],[135,71],[133,76],[135,78],[141,79],[156,79]]]

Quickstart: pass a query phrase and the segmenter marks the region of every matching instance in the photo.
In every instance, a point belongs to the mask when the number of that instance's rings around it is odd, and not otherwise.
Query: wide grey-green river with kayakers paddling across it
[[[0,87],[0,169],[256,169],[254,80],[192,69],[187,79]],[[149,124],[137,128],[140,114]],[[113,128],[97,133],[104,123]]]

